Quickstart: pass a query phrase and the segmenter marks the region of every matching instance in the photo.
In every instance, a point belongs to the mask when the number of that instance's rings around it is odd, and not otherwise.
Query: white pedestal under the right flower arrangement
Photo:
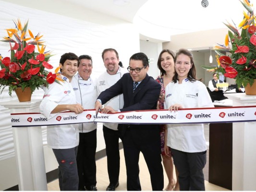
[[[225,96],[233,100],[233,107],[256,106],[256,96],[244,93]],[[256,121],[233,123],[232,191],[256,191],[255,140]]]

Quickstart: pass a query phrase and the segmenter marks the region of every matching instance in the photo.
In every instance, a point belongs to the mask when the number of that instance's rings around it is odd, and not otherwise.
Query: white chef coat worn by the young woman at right
[[[165,89],[165,105],[181,104],[183,108],[213,108],[206,86],[200,82],[184,79],[182,84],[169,83]],[[179,112],[177,112],[179,115]],[[168,124],[167,146],[195,153],[207,150],[203,124]]]

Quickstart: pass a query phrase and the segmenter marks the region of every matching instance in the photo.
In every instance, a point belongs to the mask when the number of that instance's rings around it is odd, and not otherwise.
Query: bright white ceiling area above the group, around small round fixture
[[[137,25],[141,39],[154,42],[170,41],[172,35],[217,28],[232,21],[243,20],[244,6],[239,0],[121,0],[125,5],[114,4],[115,0],[65,0],[102,12]],[[250,0],[251,3],[256,0]]]

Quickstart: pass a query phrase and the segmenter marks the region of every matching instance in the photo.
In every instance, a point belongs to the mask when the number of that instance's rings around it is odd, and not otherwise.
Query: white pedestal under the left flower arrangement
[[[11,113],[38,113],[40,101],[5,102]],[[41,127],[13,127],[13,140],[20,191],[47,191]]]

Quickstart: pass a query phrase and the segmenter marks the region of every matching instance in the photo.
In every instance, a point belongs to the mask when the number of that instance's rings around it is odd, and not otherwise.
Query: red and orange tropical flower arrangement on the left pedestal
[[[48,72],[45,69],[52,69],[49,64],[49,58],[52,56],[50,52],[45,52],[46,46],[41,40],[40,33],[34,36],[28,30],[29,37],[26,38],[28,21],[22,26],[20,20],[13,21],[15,29],[6,29],[8,36],[1,41],[9,42],[11,57],[2,58],[0,55],[0,89],[9,86],[9,95],[12,96],[12,91],[17,87],[22,90],[30,87],[33,93],[41,85],[48,85],[54,81],[60,80],[55,73]],[[37,51],[35,51],[37,47]],[[2,93],[2,91],[1,91]]]

